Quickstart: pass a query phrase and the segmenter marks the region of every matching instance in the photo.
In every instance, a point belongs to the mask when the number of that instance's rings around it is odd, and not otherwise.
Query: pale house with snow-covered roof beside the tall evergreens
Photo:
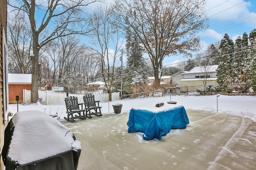
[[[216,82],[216,69],[218,65],[212,66],[196,66],[189,72],[181,73],[183,79],[180,80],[180,87],[188,86],[188,88],[180,88],[182,92],[196,92],[196,89],[204,89],[204,84],[218,84]]]

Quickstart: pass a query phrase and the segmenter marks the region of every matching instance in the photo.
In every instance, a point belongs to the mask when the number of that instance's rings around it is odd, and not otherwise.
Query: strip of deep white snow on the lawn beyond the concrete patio
[[[122,112],[127,112],[131,108],[147,109],[149,111],[156,111],[155,109],[166,109],[170,107],[184,106],[185,109],[192,110],[205,110],[217,111],[220,113],[228,113],[233,115],[240,115],[256,121],[256,96],[171,96],[171,101],[177,102],[174,104],[167,104],[170,101],[170,96],[164,97],[150,97],[138,99],[125,99],[113,102],[100,103],[102,106],[102,114],[115,114],[112,104],[122,104]],[[155,107],[159,102],[164,102],[164,106]],[[49,115],[58,114],[60,121],[64,121],[66,117],[66,106],[50,106],[39,104],[22,105],[17,104],[9,105],[10,112],[16,113],[25,110],[38,110]]]

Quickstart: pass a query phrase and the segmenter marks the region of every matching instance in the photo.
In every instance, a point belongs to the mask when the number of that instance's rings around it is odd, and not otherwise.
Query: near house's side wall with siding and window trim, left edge
[[[0,1],[0,170],[4,170],[2,148],[4,146],[4,129],[8,123],[8,83],[7,83],[7,0]]]

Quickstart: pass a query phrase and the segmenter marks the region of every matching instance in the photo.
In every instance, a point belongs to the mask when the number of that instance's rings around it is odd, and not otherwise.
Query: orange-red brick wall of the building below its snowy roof
[[[31,90],[31,84],[9,84],[9,104],[16,104],[16,96],[20,96],[19,102],[23,102],[23,90]]]

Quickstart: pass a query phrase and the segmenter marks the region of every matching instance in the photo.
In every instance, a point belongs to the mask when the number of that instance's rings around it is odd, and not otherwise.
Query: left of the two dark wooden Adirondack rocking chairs
[[[74,122],[75,121],[74,119],[76,119],[76,118],[86,119],[86,116],[84,115],[85,109],[83,109],[83,104],[78,103],[77,97],[75,97],[75,96],[66,97],[65,104],[66,104],[66,109],[67,109],[66,113],[68,113],[68,117],[64,117],[64,119],[66,121]],[[81,105],[81,109],[79,107],[80,105]]]

